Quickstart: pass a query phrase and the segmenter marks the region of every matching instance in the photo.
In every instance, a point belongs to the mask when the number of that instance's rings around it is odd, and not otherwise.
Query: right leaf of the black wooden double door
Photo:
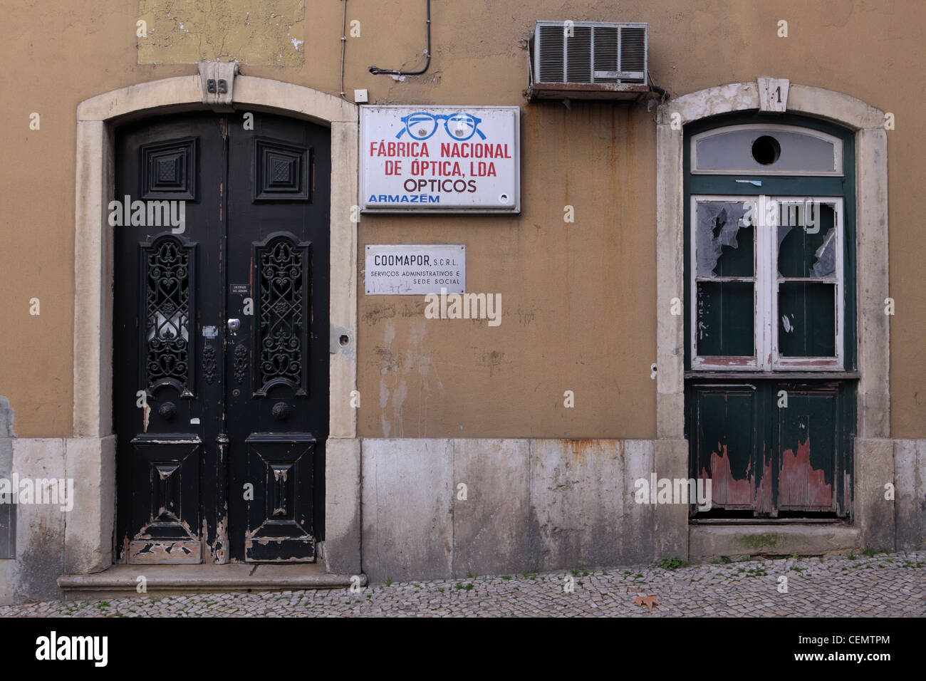
[[[254,123],[229,135],[232,556],[311,561],[324,531],[331,143],[305,121]]]

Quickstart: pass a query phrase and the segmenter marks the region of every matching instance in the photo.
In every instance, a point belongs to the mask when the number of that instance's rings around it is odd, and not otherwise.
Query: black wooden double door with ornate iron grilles
[[[259,112],[117,132],[120,561],[315,560],[330,144],[325,128]]]

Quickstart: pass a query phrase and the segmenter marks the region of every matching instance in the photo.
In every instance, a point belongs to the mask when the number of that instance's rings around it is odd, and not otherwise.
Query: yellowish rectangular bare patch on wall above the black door
[[[303,0],[230,0],[190,3],[140,0],[147,35],[138,38],[139,64],[301,66],[305,62]]]

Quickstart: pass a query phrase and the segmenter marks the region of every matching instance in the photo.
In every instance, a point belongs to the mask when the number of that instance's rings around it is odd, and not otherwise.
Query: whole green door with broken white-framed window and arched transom
[[[685,134],[685,430],[707,513],[848,515],[852,135],[759,115]]]

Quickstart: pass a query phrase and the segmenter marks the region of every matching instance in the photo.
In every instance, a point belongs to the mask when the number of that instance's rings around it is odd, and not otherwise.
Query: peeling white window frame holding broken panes
[[[778,275],[778,227],[769,226],[759,221],[755,227],[753,242],[753,277],[710,277],[709,281],[754,281],[753,345],[752,357],[740,356],[699,356],[697,353],[697,206],[698,203],[730,202],[745,203],[758,200],[757,195],[692,195],[689,230],[691,233],[689,262],[690,296],[689,306],[690,351],[693,371],[732,371],[732,372],[787,372],[815,371],[841,372],[845,367],[844,329],[845,329],[845,270],[844,270],[844,210],[840,196],[798,196],[771,195],[767,200],[804,202],[817,201],[833,207],[833,223],[836,230],[835,239],[835,278],[832,280],[783,278]],[[763,256],[762,254],[767,254]],[[706,280],[708,278],[705,278]],[[834,357],[782,357],[778,343],[778,292],[782,282],[788,281],[832,281],[834,292],[835,321],[835,356]]]

